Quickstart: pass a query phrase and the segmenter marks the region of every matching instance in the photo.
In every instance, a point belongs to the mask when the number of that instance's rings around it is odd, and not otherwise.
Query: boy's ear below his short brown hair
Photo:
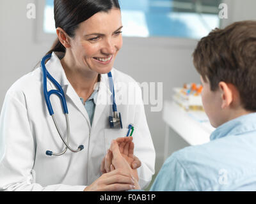
[[[232,87],[230,86],[230,84],[226,84],[225,82],[220,82],[219,88],[221,91],[221,99],[222,99],[221,108],[222,109],[228,108],[234,99],[234,93],[233,93]]]

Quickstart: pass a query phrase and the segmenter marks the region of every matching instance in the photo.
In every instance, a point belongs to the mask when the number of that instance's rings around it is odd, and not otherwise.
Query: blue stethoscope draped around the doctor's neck
[[[67,149],[69,149],[71,152],[79,152],[79,151],[84,149],[84,145],[79,145],[79,147],[77,147],[76,150],[72,149],[69,146],[70,126],[69,126],[69,121],[68,121],[68,108],[67,108],[67,102],[66,102],[65,94],[63,92],[63,89],[62,89],[61,85],[49,74],[49,72],[45,68],[45,61],[47,59],[50,59],[51,55],[52,54],[45,55],[45,57],[41,61],[41,67],[42,67],[42,72],[43,72],[44,98],[45,98],[45,103],[47,105],[49,114],[52,116],[52,120],[53,120],[53,122],[56,126],[56,129],[58,130],[60,138],[61,138],[61,140],[63,141],[63,143],[65,144],[66,147],[63,150],[63,152],[61,152],[61,153],[56,153],[56,152],[52,152],[50,150],[47,150],[46,154],[48,156],[52,156],[52,155],[61,156],[61,155],[65,154]],[[49,78],[49,80],[51,80],[52,84],[54,84],[57,89],[52,89],[51,91],[47,91],[47,78]],[[110,126],[110,128],[123,128],[121,113],[118,114],[117,109],[116,109],[115,89],[114,89],[113,78],[112,78],[111,72],[108,73],[108,78],[109,78],[109,89],[111,90],[111,93],[112,93],[112,102],[113,102],[113,105],[112,105],[113,116],[109,116],[109,118],[108,118],[109,119],[109,126]],[[51,101],[50,101],[51,94],[56,94],[61,100],[61,104],[62,104],[62,107],[63,107],[63,113],[65,114],[66,123],[67,123],[67,127],[68,127],[67,142],[64,139],[64,137],[63,137],[63,135],[60,131],[60,128],[58,128],[58,124],[57,124],[57,122],[54,118],[54,112],[52,110],[52,105],[51,105]]]

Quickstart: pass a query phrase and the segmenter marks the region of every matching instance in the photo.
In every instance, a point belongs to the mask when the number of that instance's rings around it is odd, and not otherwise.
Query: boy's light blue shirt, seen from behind
[[[256,191],[256,113],[222,124],[209,143],[174,152],[150,191]]]

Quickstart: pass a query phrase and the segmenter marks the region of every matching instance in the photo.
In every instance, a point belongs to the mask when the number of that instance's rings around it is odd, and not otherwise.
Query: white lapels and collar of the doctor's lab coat
[[[74,90],[70,82],[68,82],[67,76],[65,75],[65,71],[61,65],[58,55],[60,56],[59,53],[56,54],[55,52],[52,52],[51,59],[45,64],[47,71],[61,85],[66,96],[68,96],[68,98],[70,98],[70,100],[74,103],[74,105],[76,105],[76,107],[86,118],[90,126],[90,119],[88,117],[88,113],[86,112],[86,109],[84,108],[83,103],[81,103],[81,99],[77,95],[76,91]],[[111,73],[114,78],[115,71]],[[95,108],[95,113],[93,116],[93,124],[97,124],[97,121],[102,115],[104,108],[106,108],[106,106],[108,106],[110,103],[109,101],[111,101],[111,91],[109,89],[108,83],[109,83],[108,74],[100,75],[99,92],[97,95],[97,106]],[[48,80],[48,84],[51,84],[51,89],[56,89],[49,80]]]

